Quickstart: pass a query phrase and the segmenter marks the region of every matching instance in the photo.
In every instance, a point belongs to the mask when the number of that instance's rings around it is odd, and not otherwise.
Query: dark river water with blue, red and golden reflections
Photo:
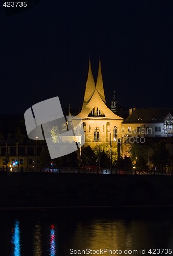
[[[0,255],[170,255],[172,213],[167,207],[1,211]]]

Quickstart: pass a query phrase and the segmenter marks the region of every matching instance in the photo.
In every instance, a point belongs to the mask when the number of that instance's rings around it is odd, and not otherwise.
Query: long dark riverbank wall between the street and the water
[[[0,172],[0,208],[128,205],[173,205],[173,176]]]

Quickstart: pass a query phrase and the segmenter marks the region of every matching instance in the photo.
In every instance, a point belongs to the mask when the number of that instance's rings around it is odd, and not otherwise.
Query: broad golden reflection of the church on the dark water
[[[151,246],[152,238],[147,221],[97,220],[88,225],[78,223],[70,246],[83,248],[112,250],[139,249],[142,245]]]

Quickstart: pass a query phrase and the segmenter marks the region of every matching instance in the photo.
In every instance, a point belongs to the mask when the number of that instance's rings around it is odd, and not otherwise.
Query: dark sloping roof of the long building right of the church
[[[127,117],[125,123],[163,123],[172,109],[136,109]]]

